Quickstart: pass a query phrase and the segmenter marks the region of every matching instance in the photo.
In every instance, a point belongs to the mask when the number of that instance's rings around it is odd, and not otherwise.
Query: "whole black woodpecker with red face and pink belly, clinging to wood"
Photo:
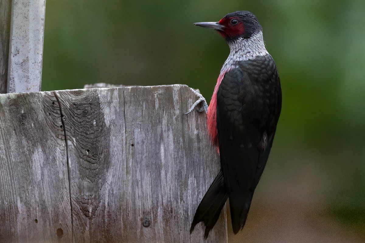
[[[196,209],[190,229],[191,233],[203,222],[207,238],[227,198],[234,234],[245,225],[273,144],[281,87],[274,59],[265,48],[262,27],[253,13],[237,11],[218,22],[195,25],[216,30],[230,47],[207,113],[208,133],[217,146],[221,169]],[[200,101],[206,107],[201,95]]]

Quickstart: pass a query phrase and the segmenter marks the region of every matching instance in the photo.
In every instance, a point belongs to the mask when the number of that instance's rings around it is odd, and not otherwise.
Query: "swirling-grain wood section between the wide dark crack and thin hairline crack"
[[[68,142],[74,242],[120,242],[118,209],[126,180],[123,89],[57,95]]]

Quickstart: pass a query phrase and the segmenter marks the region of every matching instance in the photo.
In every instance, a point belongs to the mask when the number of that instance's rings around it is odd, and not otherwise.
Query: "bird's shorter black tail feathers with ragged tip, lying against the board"
[[[218,221],[220,211],[222,211],[227,198],[228,192],[226,185],[224,184],[222,170],[220,170],[196,209],[190,228],[190,234],[193,232],[197,223],[203,222],[205,225],[204,239],[206,239],[209,231]]]

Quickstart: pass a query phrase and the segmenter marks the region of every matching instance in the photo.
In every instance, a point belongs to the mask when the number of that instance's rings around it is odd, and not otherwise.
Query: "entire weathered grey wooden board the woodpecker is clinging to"
[[[203,242],[219,171],[185,85],[0,94],[0,242]],[[226,213],[204,242],[227,242]]]

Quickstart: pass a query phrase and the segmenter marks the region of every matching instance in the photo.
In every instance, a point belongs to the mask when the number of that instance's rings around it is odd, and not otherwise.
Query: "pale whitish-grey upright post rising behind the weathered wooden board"
[[[12,0],[7,93],[41,91],[46,0]]]

